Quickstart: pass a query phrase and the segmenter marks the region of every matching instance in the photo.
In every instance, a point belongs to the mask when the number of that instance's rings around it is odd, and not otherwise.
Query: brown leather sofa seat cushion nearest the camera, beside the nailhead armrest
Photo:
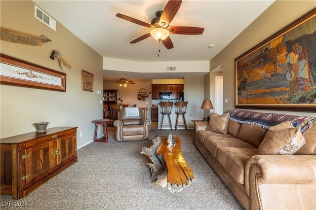
[[[257,154],[257,148],[221,147],[218,149],[217,160],[237,182],[244,184],[246,162]]]

